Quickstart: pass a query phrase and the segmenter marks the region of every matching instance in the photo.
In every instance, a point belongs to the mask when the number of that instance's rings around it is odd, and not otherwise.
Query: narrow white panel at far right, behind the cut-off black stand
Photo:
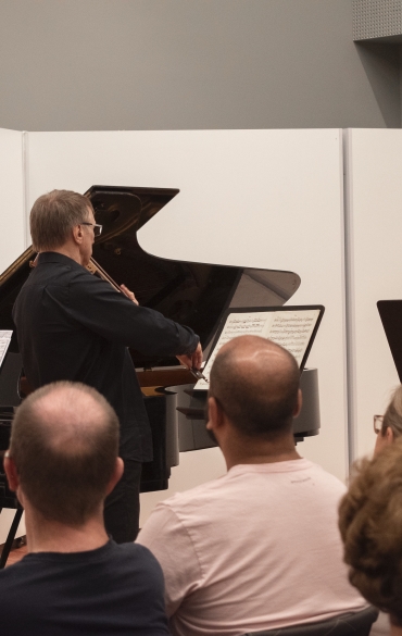
[[[373,451],[373,415],[399,384],[376,303],[402,298],[402,130],[348,130],[347,157],[350,407],[360,457]]]

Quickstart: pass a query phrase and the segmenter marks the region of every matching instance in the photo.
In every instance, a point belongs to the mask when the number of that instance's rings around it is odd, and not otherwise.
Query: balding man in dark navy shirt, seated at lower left
[[[104,529],[117,449],[117,416],[93,388],[55,383],[18,408],[4,467],[28,554],[0,572],[2,634],[167,636],[160,565]]]

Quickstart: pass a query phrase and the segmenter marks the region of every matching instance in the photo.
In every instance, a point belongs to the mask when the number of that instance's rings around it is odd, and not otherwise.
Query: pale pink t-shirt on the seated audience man
[[[162,565],[175,636],[238,636],[366,603],[338,531],[346,488],[305,459],[236,465],[159,503],[141,531]]]

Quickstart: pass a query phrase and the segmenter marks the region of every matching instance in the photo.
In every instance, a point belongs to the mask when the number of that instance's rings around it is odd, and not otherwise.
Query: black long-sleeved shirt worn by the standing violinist
[[[63,254],[45,252],[13,309],[24,371],[35,388],[59,379],[99,390],[121,422],[121,454],[152,460],[142,394],[127,347],[179,356],[196,350],[189,327],[138,307]]]

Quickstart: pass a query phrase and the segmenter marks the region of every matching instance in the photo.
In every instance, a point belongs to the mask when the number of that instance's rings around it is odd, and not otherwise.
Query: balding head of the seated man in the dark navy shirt
[[[10,456],[22,490],[45,517],[80,525],[101,504],[114,473],[118,420],[95,389],[54,383],[15,414]]]

